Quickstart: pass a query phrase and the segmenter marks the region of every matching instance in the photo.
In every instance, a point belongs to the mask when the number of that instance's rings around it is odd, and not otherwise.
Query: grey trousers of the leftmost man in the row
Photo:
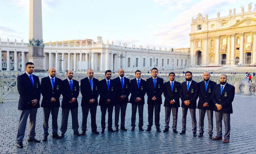
[[[20,110],[20,120],[17,132],[17,142],[22,142],[25,136],[25,130],[27,126],[27,120],[29,116],[29,134],[28,137],[30,139],[35,138],[36,136],[36,113],[37,108],[32,108],[30,110]]]

